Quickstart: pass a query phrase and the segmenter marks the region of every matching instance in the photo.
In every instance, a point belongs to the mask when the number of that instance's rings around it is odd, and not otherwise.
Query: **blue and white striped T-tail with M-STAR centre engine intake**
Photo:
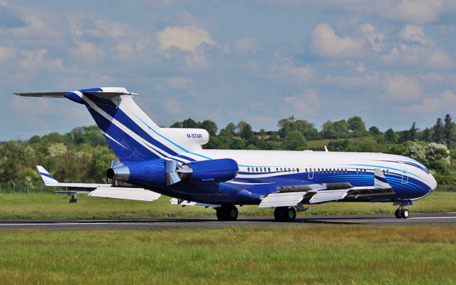
[[[138,94],[125,88],[90,88],[70,92],[15,93],[28,97],[68,98],[86,105],[98,128],[121,162],[165,158],[195,160],[194,153],[209,140],[203,129],[160,128],[133,101]]]

